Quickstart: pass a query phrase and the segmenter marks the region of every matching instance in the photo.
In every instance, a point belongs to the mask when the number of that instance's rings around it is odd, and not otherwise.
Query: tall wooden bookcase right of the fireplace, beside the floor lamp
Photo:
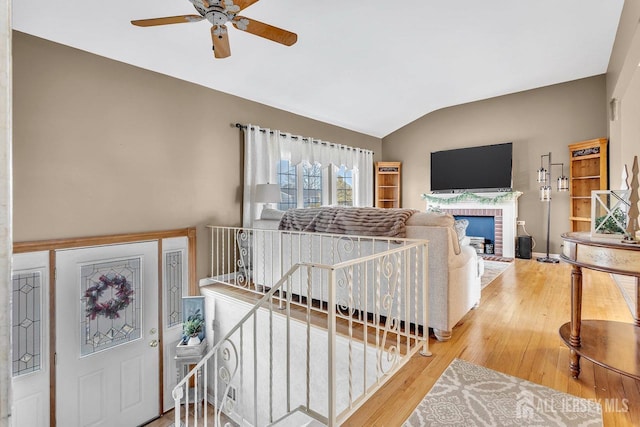
[[[571,231],[591,230],[591,191],[609,188],[607,139],[569,145],[569,222]]]

